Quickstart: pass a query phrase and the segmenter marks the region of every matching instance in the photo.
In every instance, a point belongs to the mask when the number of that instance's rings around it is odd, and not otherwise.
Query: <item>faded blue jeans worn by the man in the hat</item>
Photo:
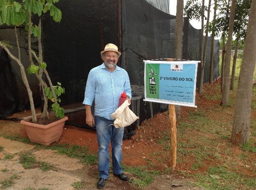
[[[111,140],[112,146],[112,165],[113,173],[120,174],[122,172],[122,138],[124,128],[117,129],[114,127],[114,121],[106,118],[95,116],[95,124],[97,129],[97,140],[99,145],[98,161],[100,178],[107,179],[109,173],[109,154],[108,147]]]

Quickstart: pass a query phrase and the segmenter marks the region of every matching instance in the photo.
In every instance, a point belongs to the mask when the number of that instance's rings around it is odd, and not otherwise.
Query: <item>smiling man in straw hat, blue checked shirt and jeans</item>
[[[105,185],[109,173],[108,146],[111,140],[113,173],[119,179],[128,182],[121,167],[122,161],[122,138],[124,128],[115,128],[111,113],[119,104],[119,97],[123,91],[126,92],[128,102],[131,104],[131,85],[128,73],[117,66],[117,61],[121,53],[114,44],[107,44],[104,51],[100,52],[104,61],[88,74],[85,88],[86,123],[89,126],[96,124],[97,140],[99,145],[98,161],[100,179],[97,182],[98,189]],[[95,102],[94,116],[91,113],[92,102]]]

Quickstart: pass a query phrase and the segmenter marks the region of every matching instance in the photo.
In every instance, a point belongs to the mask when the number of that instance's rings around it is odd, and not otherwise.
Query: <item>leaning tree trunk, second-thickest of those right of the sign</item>
[[[225,55],[224,83],[223,83],[221,105],[228,105],[231,46],[232,46],[235,11],[236,11],[236,0],[232,0],[230,17],[229,17],[229,25],[228,25],[228,41],[227,41],[227,51]]]

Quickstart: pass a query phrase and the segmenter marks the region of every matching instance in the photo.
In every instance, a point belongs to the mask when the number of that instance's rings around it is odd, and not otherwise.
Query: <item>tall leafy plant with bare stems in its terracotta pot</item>
[[[0,25],[13,25],[16,36],[18,57],[13,55],[9,48],[12,48],[8,41],[0,41],[0,47],[2,47],[8,55],[19,65],[23,83],[26,86],[28,92],[28,98],[31,107],[32,118],[22,120],[21,123],[25,125],[28,138],[32,142],[49,145],[54,141],[60,139],[63,132],[63,126],[68,119],[64,116],[64,109],[60,107],[59,96],[64,93],[64,88],[60,83],[53,85],[49,74],[46,70],[46,63],[43,61],[43,51],[41,44],[41,14],[50,12],[51,17],[55,22],[60,22],[62,14],[60,9],[55,6],[59,0],[22,0],[22,3],[14,0],[0,0]],[[31,21],[39,20],[35,25]],[[27,73],[35,74],[39,86],[42,89],[44,97],[43,113],[40,117],[36,116],[34,108],[33,93],[30,89],[27,75],[23,63],[20,58],[20,45],[17,35],[17,26],[25,26],[28,33],[28,59],[30,66],[28,66]],[[31,49],[31,35],[38,41],[38,55]],[[34,59],[33,59],[33,57]],[[35,64],[35,63],[36,64]],[[43,79],[45,74],[47,81]],[[49,85],[49,87],[48,87]],[[48,99],[51,99],[53,104],[51,105],[53,110],[53,116],[48,114]],[[51,122],[54,121],[54,122]]]

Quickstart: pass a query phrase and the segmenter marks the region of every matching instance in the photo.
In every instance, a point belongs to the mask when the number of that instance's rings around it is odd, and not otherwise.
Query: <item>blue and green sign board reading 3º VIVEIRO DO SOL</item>
[[[144,61],[145,99],[148,102],[196,107],[199,61]]]

